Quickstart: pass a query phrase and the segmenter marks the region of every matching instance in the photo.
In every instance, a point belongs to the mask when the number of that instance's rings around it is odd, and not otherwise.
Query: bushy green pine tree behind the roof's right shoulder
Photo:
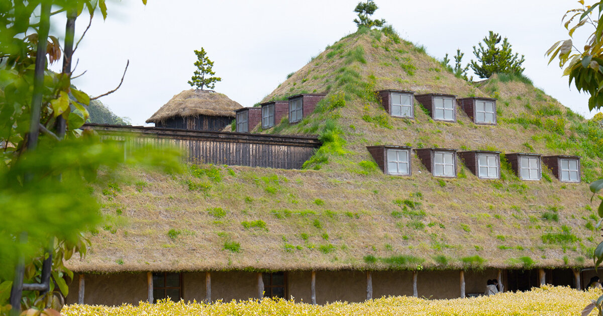
[[[522,74],[524,68],[523,55],[519,58],[519,54],[514,54],[511,50],[511,44],[507,37],[502,41],[502,46],[496,46],[500,43],[500,36],[493,31],[490,31],[488,37],[484,37],[484,44],[479,43],[479,49],[473,46],[473,54],[478,60],[472,60],[470,66],[479,78],[490,78],[493,74],[509,73]]]

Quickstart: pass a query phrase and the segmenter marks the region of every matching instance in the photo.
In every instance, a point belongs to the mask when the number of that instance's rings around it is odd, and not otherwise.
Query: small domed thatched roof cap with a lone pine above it
[[[147,119],[147,123],[165,121],[174,116],[229,116],[235,117],[235,110],[242,106],[222,93],[212,90],[190,89],[174,95],[174,97],[162,106],[153,116]]]

